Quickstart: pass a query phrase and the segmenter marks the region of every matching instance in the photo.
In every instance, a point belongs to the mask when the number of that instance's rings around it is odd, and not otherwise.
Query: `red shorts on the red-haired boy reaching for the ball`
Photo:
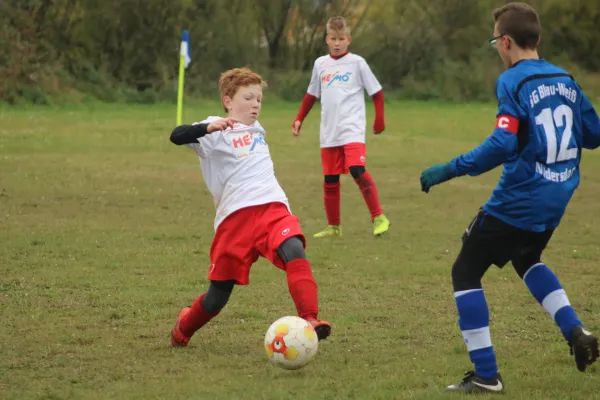
[[[217,228],[210,248],[208,279],[235,280],[238,285],[247,285],[250,283],[250,267],[259,256],[285,270],[277,248],[294,236],[300,236],[306,247],[298,217],[292,215],[283,203],[267,203],[237,210]]]

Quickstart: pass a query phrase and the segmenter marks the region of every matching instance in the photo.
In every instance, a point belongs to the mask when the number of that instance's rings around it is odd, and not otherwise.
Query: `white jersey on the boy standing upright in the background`
[[[365,142],[364,89],[372,96],[381,85],[361,56],[317,58],[307,92],[321,98],[321,147]]]

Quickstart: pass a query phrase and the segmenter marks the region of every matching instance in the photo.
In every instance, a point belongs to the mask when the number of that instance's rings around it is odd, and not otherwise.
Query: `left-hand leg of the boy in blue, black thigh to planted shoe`
[[[452,284],[458,310],[458,324],[475,370],[463,380],[446,388],[461,393],[501,393],[504,391],[498,373],[496,354],[490,335],[490,315],[481,278],[496,261],[494,250],[496,227],[485,221],[480,212],[463,236],[461,251],[452,266]]]

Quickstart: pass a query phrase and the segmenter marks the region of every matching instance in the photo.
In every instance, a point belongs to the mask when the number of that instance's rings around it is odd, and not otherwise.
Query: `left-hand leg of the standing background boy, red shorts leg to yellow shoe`
[[[344,173],[343,148],[321,149],[321,163],[325,181],[323,182],[323,203],[327,215],[327,227],[317,232],[315,238],[341,236],[340,228],[340,174]]]

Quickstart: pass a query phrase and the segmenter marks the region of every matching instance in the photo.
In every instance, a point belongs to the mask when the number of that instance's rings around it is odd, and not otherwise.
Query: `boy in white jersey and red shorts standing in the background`
[[[302,106],[292,124],[300,135],[302,121],[321,98],[321,163],[325,175],[324,203],[328,226],[314,237],[341,236],[340,175],[350,172],[371,212],[373,235],[387,232],[390,221],[383,215],[375,182],[365,170],[366,111],[363,91],[375,104],[373,133],[385,129],[383,90],[364,58],[348,53],[352,41],[346,20],[327,22],[329,55],[317,58]]]

